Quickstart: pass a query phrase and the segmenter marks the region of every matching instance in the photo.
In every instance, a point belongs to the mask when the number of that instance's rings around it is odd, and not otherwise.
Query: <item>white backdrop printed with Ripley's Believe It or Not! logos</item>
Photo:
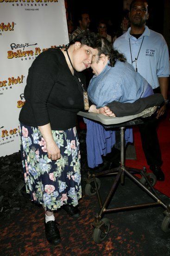
[[[68,42],[64,0],[0,0],[0,156],[19,151],[19,112],[32,61]]]

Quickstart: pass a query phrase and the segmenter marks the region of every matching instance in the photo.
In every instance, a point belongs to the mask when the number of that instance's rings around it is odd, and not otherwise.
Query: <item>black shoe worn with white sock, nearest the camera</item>
[[[60,243],[61,242],[60,231],[57,228],[56,221],[49,221],[47,223],[44,221],[44,225],[45,225],[45,236],[47,241],[53,245],[57,245],[58,243]]]

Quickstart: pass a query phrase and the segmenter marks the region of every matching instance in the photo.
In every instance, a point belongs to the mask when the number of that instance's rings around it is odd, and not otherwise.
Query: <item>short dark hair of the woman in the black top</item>
[[[73,40],[70,41],[69,45],[75,42],[80,42],[82,45],[87,45],[92,48],[97,48],[98,35],[94,32],[83,31],[78,34]]]

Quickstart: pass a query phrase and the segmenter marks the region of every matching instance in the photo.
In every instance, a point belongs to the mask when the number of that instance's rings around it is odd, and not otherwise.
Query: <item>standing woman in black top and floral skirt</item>
[[[67,50],[50,48],[43,52],[33,61],[25,86],[19,121],[26,191],[45,209],[45,233],[52,244],[60,242],[53,210],[63,206],[71,217],[80,216],[76,113],[84,107],[85,81],[77,72],[90,67],[97,38],[94,33],[83,32]]]

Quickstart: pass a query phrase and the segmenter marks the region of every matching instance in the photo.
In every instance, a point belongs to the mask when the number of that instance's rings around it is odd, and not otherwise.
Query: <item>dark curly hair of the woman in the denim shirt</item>
[[[100,58],[101,54],[108,56],[110,63],[108,64],[111,67],[114,67],[116,61],[125,62],[126,58],[123,54],[120,54],[118,51],[113,49],[112,43],[110,43],[106,37],[100,36],[97,41],[97,50],[98,57]]]

